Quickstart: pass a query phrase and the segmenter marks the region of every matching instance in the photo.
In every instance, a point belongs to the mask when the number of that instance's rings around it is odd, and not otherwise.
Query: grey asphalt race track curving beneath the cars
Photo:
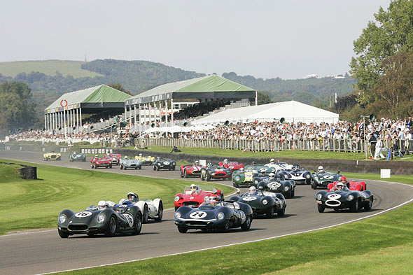
[[[90,162],[73,163],[69,162],[67,156],[62,157],[62,161],[43,162],[41,153],[0,151],[0,158],[90,169]],[[100,171],[157,178],[180,178],[179,171],[153,171],[152,167],[127,171],[114,167],[113,169],[100,169]],[[195,181],[200,180],[195,179]],[[287,199],[285,216],[272,219],[256,218],[253,220],[251,230],[247,232],[239,229],[230,230],[227,233],[190,230],[186,234],[180,234],[173,223],[174,211],[169,209],[165,211],[161,223],[150,222],[143,225],[141,234],[138,236],[106,238],[76,235],[69,239],[61,239],[57,234],[57,228],[3,235],[0,236],[2,248],[0,250],[0,274],[41,274],[110,265],[116,262],[141,260],[316,230],[381,213],[413,197],[413,188],[409,185],[383,181],[366,182],[367,188],[374,194],[371,211],[349,213],[326,209],[325,213],[318,213],[314,199],[315,191],[311,190],[309,185],[298,185],[295,190],[296,197]]]

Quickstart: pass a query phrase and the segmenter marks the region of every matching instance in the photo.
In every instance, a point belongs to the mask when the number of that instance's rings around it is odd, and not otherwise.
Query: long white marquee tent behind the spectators
[[[258,106],[228,109],[199,120],[191,125],[221,124],[228,122],[274,121],[285,118],[286,122],[328,122],[339,120],[338,113],[325,111],[297,101],[283,101]]]

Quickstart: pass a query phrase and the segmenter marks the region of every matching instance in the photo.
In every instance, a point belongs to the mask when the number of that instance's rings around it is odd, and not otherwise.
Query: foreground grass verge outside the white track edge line
[[[407,204],[327,230],[64,274],[411,274],[412,211]]]

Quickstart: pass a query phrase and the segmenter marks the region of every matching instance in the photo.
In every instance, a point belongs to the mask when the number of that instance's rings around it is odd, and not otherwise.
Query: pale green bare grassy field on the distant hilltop
[[[80,68],[83,61],[71,60],[35,60],[35,61],[15,61],[15,62],[0,62],[0,73],[3,76],[15,77],[18,73],[31,73],[31,71],[39,71],[48,76],[55,76],[56,71],[62,73],[63,76],[73,76],[73,78],[102,76],[99,73],[87,71]]]

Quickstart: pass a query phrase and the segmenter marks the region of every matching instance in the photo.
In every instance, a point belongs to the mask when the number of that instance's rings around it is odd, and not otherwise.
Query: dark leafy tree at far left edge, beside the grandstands
[[[4,136],[19,129],[27,130],[36,118],[31,90],[26,83],[0,84],[0,135]]]

